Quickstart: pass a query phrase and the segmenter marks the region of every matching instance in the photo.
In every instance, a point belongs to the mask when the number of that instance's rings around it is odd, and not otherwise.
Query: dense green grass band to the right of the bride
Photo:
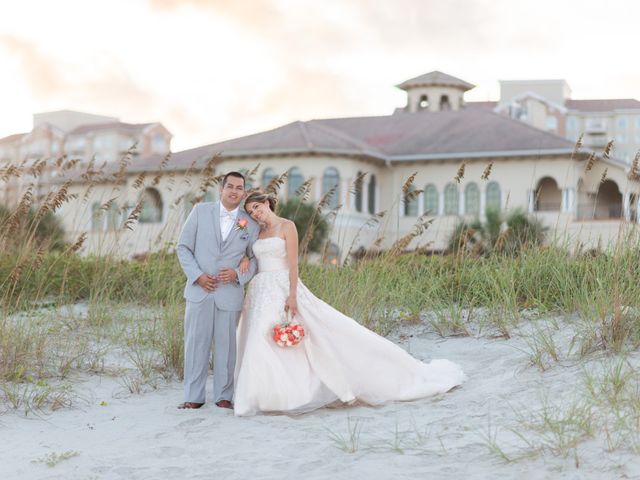
[[[601,325],[604,340],[608,326],[618,328],[619,340],[636,344],[637,329],[631,327],[637,323],[633,319],[640,287],[633,269],[620,265],[637,264],[640,259],[637,250],[621,255],[623,259],[616,261],[613,254],[574,256],[561,248],[535,247],[515,257],[382,256],[345,268],[303,265],[302,278],[318,296],[363,323],[393,308],[420,312],[455,304],[488,308],[496,326],[507,334],[521,310],[534,308],[577,312]],[[625,321],[624,328],[619,321],[613,326],[607,323],[615,314],[614,291],[624,307],[619,311],[626,312],[617,317]],[[603,344],[603,348],[618,346],[612,341]]]

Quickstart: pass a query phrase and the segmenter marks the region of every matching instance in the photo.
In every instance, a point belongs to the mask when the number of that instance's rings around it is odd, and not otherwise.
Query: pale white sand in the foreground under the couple
[[[124,395],[117,379],[87,376],[70,409],[0,416],[0,479],[640,478],[639,457],[607,452],[600,434],[565,456],[532,452],[510,430],[545,398],[558,405],[579,398],[588,366],[560,362],[541,371],[531,365],[527,335],[442,339],[426,324],[405,325],[392,340],[420,359],[459,363],[468,381],[419,401],[295,417],[237,418],[212,404],[178,410],[177,381]],[[562,328],[557,335],[570,337]],[[209,396],[211,386],[209,379]],[[359,432],[356,442],[350,431]],[[516,461],[490,453],[493,436]]]

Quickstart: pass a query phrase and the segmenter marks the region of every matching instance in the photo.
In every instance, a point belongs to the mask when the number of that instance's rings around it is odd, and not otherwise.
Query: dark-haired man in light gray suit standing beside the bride
[[[184,399],[178,408],[200,408],[214,340],[213,396],[218,407],[233,408],[236,325],[244,299],[243,285],[256,272],[251,247],[258,225],[241,208],[245,180],[239,172],[225,175],[220,201],[196,204],[178,240],[178,260],[187,276],[184,289]],[[241,258],[250,259],[241,274]]]

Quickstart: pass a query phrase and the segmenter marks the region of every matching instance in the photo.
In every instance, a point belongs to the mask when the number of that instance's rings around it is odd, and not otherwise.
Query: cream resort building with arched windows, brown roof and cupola
[[[431,72],[398,85],[407,94],[406,107],[390,115],[298,121],[170,159],[163,154],[170,135],[160,124],[125,128],[111,119],[111,130],[100,123],[74,125],[59,135],[64,141],[58,148],[66,152],[67,142],[76,140],[85,159],[58,180],[72,179],[78,196],[62,208],[65,227],[71,238],[88,232],[86,251],[133,255],[161,248],[176,241],[193,201],[217,197],[217,187],[205,182],[199,188],[215,168],[254,172],[252,187],[287,172],[282,199],[296,197],[305,181],[314,202],[333,192],[325,213],[335,212],[329,215],[331,242],[342,256],[374,244],[388,248],[427,222],[409,248],[440,251],[458,222],[483,219],[490,208],[536,215],[550,227],[551,240],[606,245],[622,223],[638,222],[640,185],[620,149],[602,154],[606,142],[599,136],[617,136],[625,118],[629,139],[640,125],[632,108],[640,102],[571,100],[563,81],[525,83],[502,82],[499,102],[466,102],[472,84]],[[588,128],[596,118],[610,130]],[[119,174],[122,138],[133,129],[143,149]],[[584,145],[576,151],[581,129]],[[115,153],[105,154],[102,174],[90,178],[82,169],[102,151],[95,139],[105,130]],[[2,139],[0,148],[23,138]],[[85,139],[84,152],[79,138]],[[11,148],[0,159],[12,158],[17,150]],[[592,152],[597,156],[588,161]],[[123,225],[132,213],[139,224],[130,231]]]

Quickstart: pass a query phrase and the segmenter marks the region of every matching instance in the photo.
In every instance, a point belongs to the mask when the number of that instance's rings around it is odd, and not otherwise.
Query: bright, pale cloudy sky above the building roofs
[[[296,120],[388,115],[432,70],[640,99],[628,0],[0,0],[0,138],[32,114],[161,122],[179,151]],[[634,64],[635,62],[635,64]]]

